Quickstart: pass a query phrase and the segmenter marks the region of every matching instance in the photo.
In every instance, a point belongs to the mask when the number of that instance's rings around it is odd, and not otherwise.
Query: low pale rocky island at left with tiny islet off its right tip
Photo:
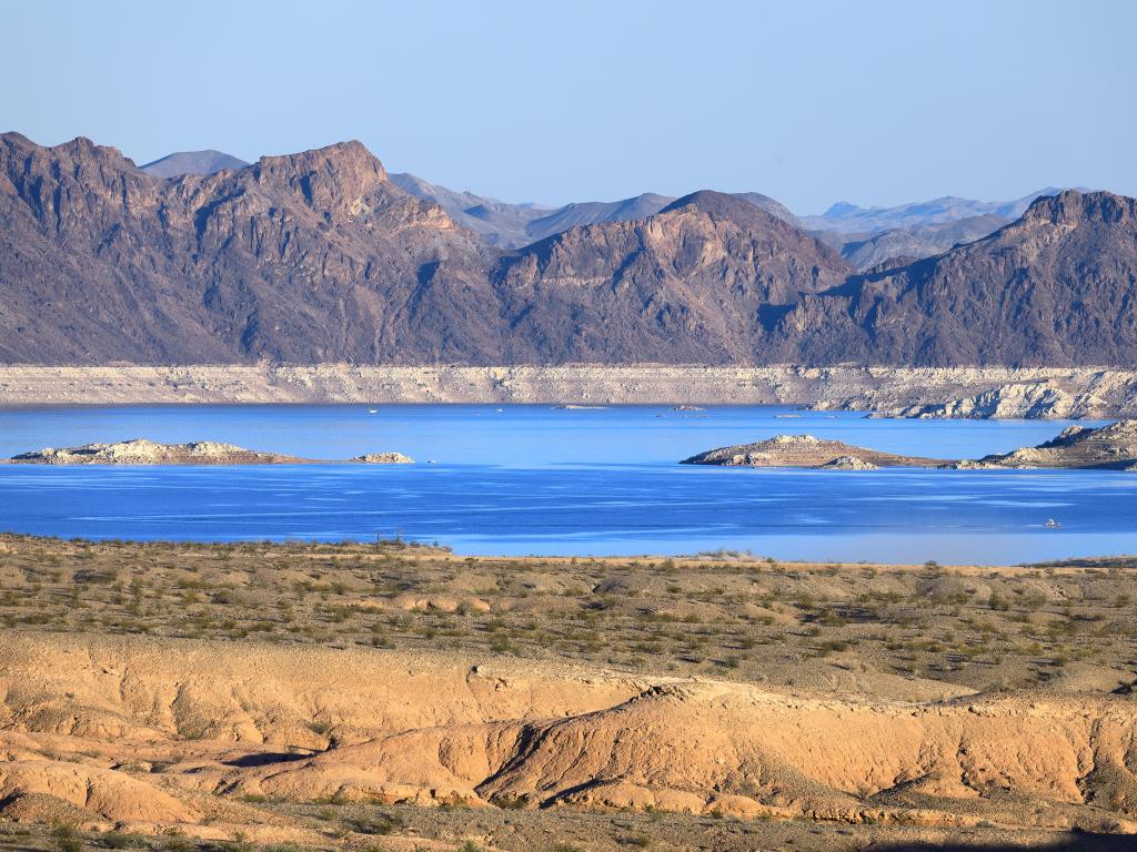
[[[414,462],[400,452],[358,456],[349,462],[367,465],[409,465]],[[275,452],[258,452],[234,444],[192,441],[185,444],[160,444],[144,437],[115,443],[83,444],[23,452],[8,460],[11,465],[312,465],[337,463],[318,459],[301,459]]]

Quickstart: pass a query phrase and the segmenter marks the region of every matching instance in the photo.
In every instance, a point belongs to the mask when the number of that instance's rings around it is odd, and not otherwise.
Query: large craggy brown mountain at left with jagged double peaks
[[[0,217],[6,361],[498,354],[490,251],[357,142],[163,181],[88,140],[7,134]]]

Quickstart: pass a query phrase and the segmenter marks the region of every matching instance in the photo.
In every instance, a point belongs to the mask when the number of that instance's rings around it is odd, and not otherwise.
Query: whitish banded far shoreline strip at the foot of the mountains
[[[0,366],[0,406],[258,403],[783,404],[901,417],[1137,415],[1137,370],[699,365]]]

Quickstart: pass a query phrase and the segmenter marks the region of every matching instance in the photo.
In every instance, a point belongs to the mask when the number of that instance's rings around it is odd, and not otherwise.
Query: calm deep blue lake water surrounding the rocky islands
[[[810,433],[974,458],[1063,421],[870,420],[778,407],[131,406],[0,409],[0,456],[144,436],[414,466],[0,466],[0,529],[92,538],[373,540],[462,553],[1019,562],[1137,552],[1137,475],[750,470],[696,452]],[[434,463],[425,463],[433,460]],[[1062,526],[1047,529],[1047,518]]]

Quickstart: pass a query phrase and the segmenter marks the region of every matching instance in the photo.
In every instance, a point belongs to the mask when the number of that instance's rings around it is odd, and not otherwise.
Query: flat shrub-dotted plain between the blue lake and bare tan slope
[[[665,661],[741,680],[777,677],[803,650],[855,649],[881,671],[974,688],[1036,682],[1040,661],[1124,665],[1137,636],[1126,560],[981,570],[735,552],[479,559],[397,541],[3,541],[7,629],[482,650],[626,669]],[[331,733],[327,719],[308,727]]]

